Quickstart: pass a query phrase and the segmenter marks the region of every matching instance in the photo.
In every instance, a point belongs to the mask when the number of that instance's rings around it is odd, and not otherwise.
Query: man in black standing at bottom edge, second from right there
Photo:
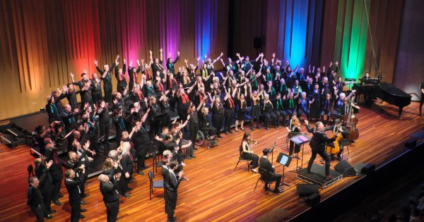
[[[106,205],[107,222],[117,221],[119,211],[119,192],[117,185],[121,178],[121,173],[116,175],[115,180],[109,180],[109,176],[105,174],[99,175],[100,192],[103,195],[103,202]]]

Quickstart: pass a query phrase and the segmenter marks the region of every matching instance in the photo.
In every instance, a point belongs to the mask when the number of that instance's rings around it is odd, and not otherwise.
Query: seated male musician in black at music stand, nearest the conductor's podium
[[[276,169],[272,166],[271,162],[268,160],[268,154],[271,152],[271,149],[264,149],[262,153],[261,159],[259,159],[259,173],[261,174],[261,178],[266,181],[276,181],[276,187],[273,192],[281,193],[283,192],[283,187],[280,187],[281,183],[281,174],[276,173]],[[265,190],[268,189],[268,185],[265,184]]]

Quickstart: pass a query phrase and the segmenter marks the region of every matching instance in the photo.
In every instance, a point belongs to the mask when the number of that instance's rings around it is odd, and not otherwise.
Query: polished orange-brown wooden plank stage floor
[[[402,144],[408,139],[408,135],[424,128],[424,118],[418,117],[418,102],[413,102],[404,109],[402,119],[396,118],[395,107],[387,104],[382,106],[384,112],[378,109],[361,109],[358,113],[360,137],[349,147],[350,154],[347,155],[346,152],[345,157],[349,163],[373,163],[377,167],[381,166],[404,152]],[[253,192],[259,175],[247,173],[245,164],[240,164],[234,170],[242,135],[243,132],[224,135],[219,147],[210,150],[201,147],[196,152],[196,159],[186,161],[184,172],[189,180],[183,181],[179,186],[176,209],[178,221],[254,221],[254,218],[275,208],[283,208],[292,216],[307,209],[305,204],[299,203],[295,188],[296,184],[303,182],[295,179],[295,173],[288,173],[295,169],[295,162],[285,171],[285,182],[291,186],[282,194],[270,192],[266,197],[261,189],[262,185],[258,185]],[[254,130],[252,135],[259,141],[254,147],[257,154],[264,147],[270,147],[273,142],[277,142],[274,160],[278,152],[287,152],[287,132],[284,128]],[[310,148],[306,145],[304,164],[309,158]],[[26,146],[15,149],[0,146],[0,221],[35,221],[25,205],[28,190],[26,167],[33,160],[34,157],[30,156]],[[151,160],[148,160],[148,164],[151,166]],[[335,164],[336,161],[332,163]],[[274,166],[277,172],[282,173],[281,166]],[[120,205],[119,221],[165,221],[163,191],[155,190],[153,199],[149,200],[148,176],[135,175],[135,179],[131,184],[134,187],[130,192],[131,197],[125,198]],[[159,179],[162,179],[161,176],[156,176],[155,180]],[[343,187],[355,183],[355,180],[358,178],[343,178],[320,190],[322,198],[334,195]],[[88,209],[88,212],[81,221],[105,221],[105,205],[97,179],[90,179],[86,189],[90,197],[86,198],[88,205],[83,205],[83,208]],[[66,189],[63,187],[61,192],[64,194],[60,199],[63,204],[52,206],[52,209],[57,210],[52,221],[69,221],[70,218]]]

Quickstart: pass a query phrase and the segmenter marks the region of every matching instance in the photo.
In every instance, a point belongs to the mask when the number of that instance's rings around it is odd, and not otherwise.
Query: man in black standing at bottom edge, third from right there
[[[84,169],[82,173],[84,173]],[[69,205],[71,205],[71,222],[78,222],[80,218],[85,218],[81,214],[81,196],[80,187],[78,186],[80,179],[78,173],[72,169],[65,171],[65,186],[69,193]]]

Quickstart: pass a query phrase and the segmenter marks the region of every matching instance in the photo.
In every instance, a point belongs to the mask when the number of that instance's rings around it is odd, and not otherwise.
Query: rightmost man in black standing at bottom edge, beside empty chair
[[[165,192],[167,194],[167,202],[168,202],[168,209],[167,209],[167,222],[174,222],[174,211],[175,206],[177,206],[177,197],[178,197],[178,186],[181,180],[184,179],[184,173],[183,171],[179,171],[178,175],[175,175],[174,171],[178,168],[178,162],[177,161],[170,161],[169,165],[169,172],[167,175],[167,180],[164,183],[165,185]]]

